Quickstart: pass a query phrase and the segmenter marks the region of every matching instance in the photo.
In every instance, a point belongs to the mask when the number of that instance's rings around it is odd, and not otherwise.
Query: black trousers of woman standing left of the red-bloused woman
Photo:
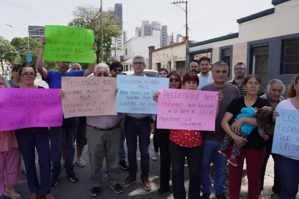
[[[169,190],[170,181],[170,152],[169,152],[170,129],[155,129],[153,137],[160,148],[160,188]]]

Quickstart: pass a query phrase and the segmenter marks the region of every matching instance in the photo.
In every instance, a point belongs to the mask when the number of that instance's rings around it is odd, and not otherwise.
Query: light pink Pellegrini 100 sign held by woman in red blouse
[[[159,89],[157,128],[215,130],[217,92]]]

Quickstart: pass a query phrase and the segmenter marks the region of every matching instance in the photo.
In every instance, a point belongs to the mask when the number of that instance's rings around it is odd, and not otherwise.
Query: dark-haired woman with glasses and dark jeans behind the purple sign
[[[16,88],[44,89],[34,85],[36,69],[29,63],[22,64],[19,70],[22,85]],[[51,153],[48,127],[30,127],[15,130],[18,146],[23,156],[30,199],[55,199],[50,193]],[[35,148],[38,153],[40,184],[35,167]],[[39,194],[40,192],[40,194]]]

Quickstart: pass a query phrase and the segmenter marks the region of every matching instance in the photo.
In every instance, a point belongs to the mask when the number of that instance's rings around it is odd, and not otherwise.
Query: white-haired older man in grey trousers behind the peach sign
[[[109,67],[106,64],[98,64],[94,71],[97,78],[108,77]],[[116,75],[115,75],[116,76]],[[124,190],[119,184],[120,168],[120,144],[121,134],[124,132],[123,113],[117,115],[87,116],[87,145],[90,163],[90,180],[92,190],[90,195],[97,197],[101,193],[102,164],[106,158],[109,187],[117,194]]]

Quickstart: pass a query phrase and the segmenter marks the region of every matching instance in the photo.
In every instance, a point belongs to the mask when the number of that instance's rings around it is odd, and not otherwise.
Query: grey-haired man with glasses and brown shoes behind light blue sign
[[[137,55],[133,58],[132,68],[134,76],[146,77],[146,59]],[[149,183],[149,143],[150,143],[151,114],[126,113],[125,132],[128,147],[129,176],[121,183],[122,187],[128,187],[137,181],[137,137],[141,153],[141,182],[146,191],[151,190]]]

